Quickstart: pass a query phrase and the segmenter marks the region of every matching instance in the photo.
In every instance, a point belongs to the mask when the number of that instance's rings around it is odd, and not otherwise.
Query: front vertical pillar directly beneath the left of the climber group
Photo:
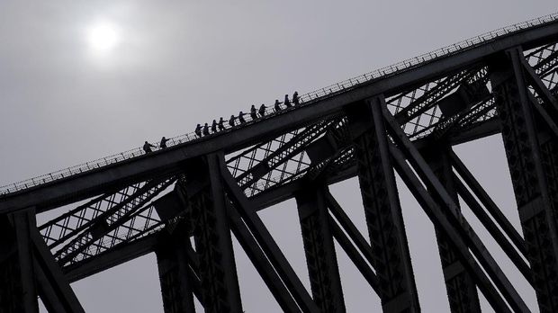
[[[186,179],[206,185],[190,198],[195,251],[206,312],[242,312],[218,156],[190,166]]]

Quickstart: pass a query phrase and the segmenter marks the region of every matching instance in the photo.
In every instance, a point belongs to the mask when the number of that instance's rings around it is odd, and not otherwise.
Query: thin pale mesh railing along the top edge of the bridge
[[[407,70],[410,69],[411,67],[416,67],[419,66],[419,64],[424,63],[424,62],[428,62],[430,60],[433,60],[435,58],[440,58],[440,57],[446,57],[448,55],[454,54],[458,51],[463,51],[464,49],[471,49],[479,44],[482,43],[486,43],[488,41],[491,40],[495,40],[501,36],[505,36],[508,35],[512,32],[515,31],[521,31],[521,30],[525,30],[527,28],[530,27],[534,27],[537,25],[541,25],[541,24],[545,24],[547,22],[554,22],[558,20],[558,13],[553,13],[553,14],[548,14],[527,22],[520,22],[514,25],[510,25],[507,27],[503,27],[500,28],[499,30],[496,31],[489,31],[486,33],[483,33],[482,35],[473,37],[471,39],[468,40],[463,40],[460,42],[457,42],[453,45],[441,48],[441,49],[437,49],[428,53],[425,53],[423,55],[420,55],[418,57],[415,58],[409,58],[406,59],[404,61],[401,61],[399,63],[393,64],[389,67],[383,67],[380,69],[376,69],[372,72],[368,72],[365,73],[361,76],[356,76],[353,78],[349,78],[347,80],[344,80],[342,82],[339,82],[337,84],[334,85],[329,85],[327,87],[324,88],[320,88],[318,90],[312,91],[311,93],[308,94],[302,94],[300,96],[301,99],[301,103],[311,103],[313,101],[316,101],[320,98],[323,98],[325,96],[330,96],[332,94],[337,94],[343,91],[346,91],[347,89],[353,88],[356,85],[360,85],[363,84],[365,82],[368,82],[370,80],[379,78],[379,77],[384,77],[384,76],[390,76],[394,73],[400,72],[402,70]],[[285,111],[285,110],[283,110]],[[258,118],[258,121],[264,120],[266,118],[268,118],[271,115],[275,115],[277,113],[281,113],[281,112],[275,112],[274,108],[272,106],[267,107],[266,109],[266,115],[264,117]],[[253,121],[253,119],[250,117],[249,113],[247,113],[245,120],[247,121],[247,123],[251,123]],[[238,122],[238,120],[237,120]],[[230,127],[228,124],[225,126],[225,130],[221,130],[221,131],[228,131],[230,129],[234,129],[239,127],[240,125],[236,125],[235,127]],[[218,131],[218,132],[221,132]],[[211,135],[210,135],[211,136]],[[167,142],[167,146],[168,147],[172,147],[172,146],[176,146],[176,145],[180,145],[183,144],[184,142],[188,142],[188,141],[193,141],[196,139],[200,139],[197,135],[195,135],[193,132],[181,135],[181,136],[177,136],[175,138],[169,139],[169,141]],[[49,183],[49,182],[53,182],[56,181],[58,179],[62,179],[65,178],[67,176],[73,175],[73,174],[81,174],[90,170],[93,170],[95,168],[99,168],[99,167],[103,167],[105,165],[111,165],[114,163],[118,163],[127,159],[130,159],[132,157],[136,157],[136,156],[141,156],[143,155],[144,152],[142,151],[141,148],[134,148],[125,152],[121,152],[119,154],[116,155],[112,155],[112,156],[105,156],[103,158],[94,160],[94,161],[90,161],[81,165],[75,165],[75,166],[71,166],[71,167],[67,167],[65,169],[59,170],[57,172],[53,172],[53,173],[49,173],[49,174],[43,174],[37,177],[33,177],[31,179],[27,179],[18,183],[10,183],[4,186],[0,186],[0,197],[2,197],[5,194],[11,193],[11,192],[18,192],[18,191],[22,191],[24,189],[28,189],[34,186],[37,186],[39,184],[42,183]]]

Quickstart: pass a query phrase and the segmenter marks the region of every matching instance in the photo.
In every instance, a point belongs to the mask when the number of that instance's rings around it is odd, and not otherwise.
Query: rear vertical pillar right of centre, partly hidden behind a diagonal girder
[[[459,198],[455,188],[455,175],[451,163],[451,147],[444,143],[437,143],[436,149],[430,149],[423,155],[437,179],[446,187],[449,196],[459,205]],[[444,206],[443,201],[438,201]],[[470,273],[465,270],[460,261],[455,246],[438,229],[436,231],[438,250],[446,281],[447,299],[452,312],[481,312],[479,295]]]

